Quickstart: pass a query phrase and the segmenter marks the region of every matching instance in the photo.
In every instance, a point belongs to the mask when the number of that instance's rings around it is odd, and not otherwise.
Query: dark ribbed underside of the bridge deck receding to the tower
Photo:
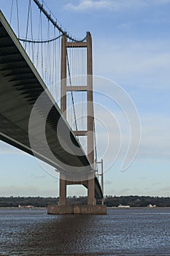
[[[39,97],[42,97],[42,105],[34,108],[37,118],[30,124],[31,111]],[[85,180],[93,173],[77,138],[1,12],[0,120],[0,139],[4,142],[42,159],[57,170],[62,170],[66,176],[78,176]],[[59,121],[62,130],[58,133]],[[69,151],[61,146],[61,141]],[[47,146],[50,150],[47,150]],[[95,197],[103,197],[97,178]]]

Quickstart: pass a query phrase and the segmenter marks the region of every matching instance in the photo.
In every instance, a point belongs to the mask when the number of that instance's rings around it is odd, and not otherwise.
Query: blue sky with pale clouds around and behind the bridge
[[[5,0],[0,4],[7,18],[12,1],[9,2],[8,6]],[[24,8],[22,3],[19,0],[20,10]],[[105,195],[169,196],[170,0],[46,0],[45,3],[75,36],[81,38],[86,31],[91,32],[94,75],[119,84],[139,112],[142,126],[139,152],[124,172],[120,170],[124,151],[107,170]],[[107,88],[106,91],[112,93]],[[123,128],[126,141],[128,128],[120,109],[112,105],[110,110]],[[104,140],[104,136],[98,135],[101,148]],[[58,196],[58,179],[46,173],[34,157],[1,143],[0,159],[0,195]],[[112,154],[108,152],[104,165],[110,159]],[[86,195],[86,189],[69,187],[68,195]]]

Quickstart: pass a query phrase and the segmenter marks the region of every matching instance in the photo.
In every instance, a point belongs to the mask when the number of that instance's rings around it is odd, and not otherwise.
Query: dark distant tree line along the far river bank
[[[87,197],[67,197],[68,204],[87,204]],[[58,204],[59,197],[0,197],[0,207],[35,206],[47,207]],[[170,197],[150,197],[150,196],[112,196],[104,197],[104,203],[108,207],[120,205],[131,207],[147,207],[148,205],[158,207],[170,207]]]

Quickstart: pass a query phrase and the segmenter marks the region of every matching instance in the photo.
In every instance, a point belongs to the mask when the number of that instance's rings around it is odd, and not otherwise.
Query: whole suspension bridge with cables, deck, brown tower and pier
[[[45,1],[28,0],[26,8],[25,37],[18,0],[12,0],[8,21],[0,11],[0,139],[60,173],[59,205],[49,206],[49,214],[106,214],[103,160],[97,158],[91,34],[72,36]],[[87,206],[66,205],[66,186],[72,184],[88,189]]]

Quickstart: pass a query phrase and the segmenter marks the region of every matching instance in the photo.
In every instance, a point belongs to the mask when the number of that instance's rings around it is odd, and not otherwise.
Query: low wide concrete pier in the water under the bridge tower
[[[47,214],[107,214],[107,206],[65,205],[48,206]]]

